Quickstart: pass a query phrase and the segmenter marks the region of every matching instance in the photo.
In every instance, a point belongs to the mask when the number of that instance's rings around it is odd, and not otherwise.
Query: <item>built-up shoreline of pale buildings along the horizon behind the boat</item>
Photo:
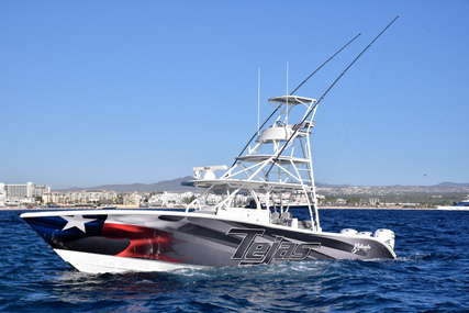
[[[143,208],[183,208],[197,193],[194,191],[116,192],[105,190],[75,190],[51,192],[46,185],[0,182],[0,208],[2,206],[97,206],[123,205]],[[469,193],[469,186],[388,186],[388,187],[322,187],[317,188],[320,206],[405,206],[432,208],[456,203]],[[289,195],[289,194],[283,194]],[[216,197],[215,197],[216,198]],[[220,199],[208,198],[208,202]],[[247,205],[249,197],[239,197],[239,205]],[[266,199],[260,199],[267,202]],[[275,203],[304,204],[306,199],[295,194],[283,199],[270,199]]]

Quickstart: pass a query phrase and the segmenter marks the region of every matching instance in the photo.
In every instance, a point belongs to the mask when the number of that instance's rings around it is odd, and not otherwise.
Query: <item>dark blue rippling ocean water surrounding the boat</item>
[[[0,211],[2,312],[469,312],[469,211],[320,211],[324,231],[393,230],[395,260],[124,275],[75,271],[20,214]]]

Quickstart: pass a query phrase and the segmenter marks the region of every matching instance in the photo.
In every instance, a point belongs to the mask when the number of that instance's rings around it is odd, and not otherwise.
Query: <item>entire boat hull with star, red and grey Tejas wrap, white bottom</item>
[[[22,217],[65,261],[87,272],[395,257],[380,238],[316,233],[302,230],[301,223],[292,228],[145,210],[24,213]]]

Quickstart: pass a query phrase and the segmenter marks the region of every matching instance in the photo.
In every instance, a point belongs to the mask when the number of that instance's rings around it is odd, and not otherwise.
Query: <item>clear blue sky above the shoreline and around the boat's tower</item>
[[[469,1],[0,1],[0,181],[152,183],[231,165],[267,99],[321,102],[320,182],[469,182]]]

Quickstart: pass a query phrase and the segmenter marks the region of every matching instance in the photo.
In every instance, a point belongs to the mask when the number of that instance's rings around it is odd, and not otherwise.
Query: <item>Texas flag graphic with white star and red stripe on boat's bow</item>
[[[53,248],[130,258],[181,262],[171,233],[120,223],[108,215],[60,215],[24,219]]]

